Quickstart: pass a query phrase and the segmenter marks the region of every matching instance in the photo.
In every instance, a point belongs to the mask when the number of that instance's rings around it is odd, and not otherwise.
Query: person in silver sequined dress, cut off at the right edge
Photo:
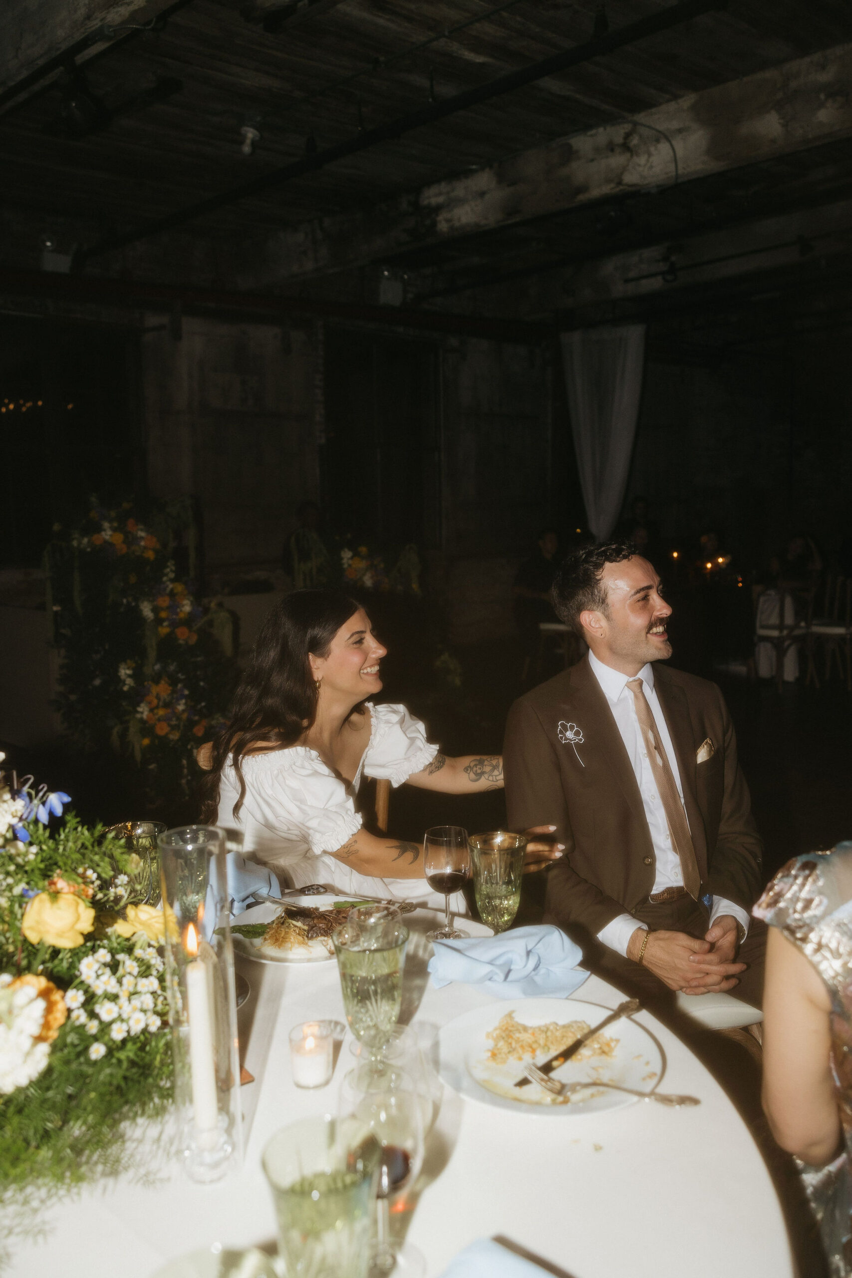
[[[752,911],[769,924],[763,1103],[796,1157],[832,1278],[852,1275],[852,841],[774,877]]]

